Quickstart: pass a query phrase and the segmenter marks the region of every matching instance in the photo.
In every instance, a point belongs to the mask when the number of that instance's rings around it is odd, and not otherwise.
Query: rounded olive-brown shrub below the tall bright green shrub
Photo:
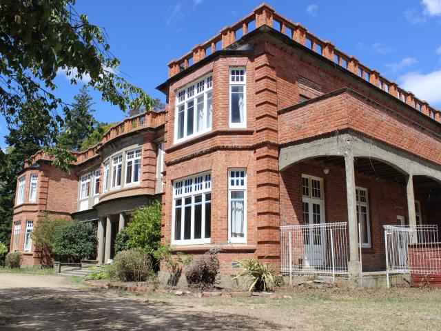
[[[116,277],[120,281],[146,281],[152,274],[152,258],[143,250],[123,250],[113,261]]]

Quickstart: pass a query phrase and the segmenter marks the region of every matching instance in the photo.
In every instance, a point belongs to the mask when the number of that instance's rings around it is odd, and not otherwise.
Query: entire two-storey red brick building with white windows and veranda
[[[115,126],[70,174],[42,155],[23,170],[11,250],[49,212],[96,222],[107,261],[130,213],[161,197],[163,240],[220,247],[224,274],[246,257],[280,268],[281,225],[347,222],[358,277],[360,258],[384,270],[382,225],[439,222],[441,112],[271,6],[168,66],[165,112]]]

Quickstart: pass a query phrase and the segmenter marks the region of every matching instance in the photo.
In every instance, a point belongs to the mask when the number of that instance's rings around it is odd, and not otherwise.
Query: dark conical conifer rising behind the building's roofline
[[[80,150],[84,139],[94,131],[96,120],[92,115],[93,102],[87,86],[83,85],[74,97],[70,119],[66,119],[58,139],[58,145],[67,150]]]

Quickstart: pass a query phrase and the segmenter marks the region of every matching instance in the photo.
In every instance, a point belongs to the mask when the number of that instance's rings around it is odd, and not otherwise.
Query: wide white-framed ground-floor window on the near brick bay
[[[196,181],[202,177],[202,181]],[[182,179],[173,181],[173,208],[172,208],[172,245],[200,245],[211,243],[211,228],[210,237],[205,238],[205,207],[207,202],[207,194],[212,194],[212,174],[211,172],[203,172],[201,174],[192,175]],[[195,197],[202,195],[201,201],[201,238],[194,239],[194,209]],[[184,238],[185,231],[185,198],[191,198],[191,226],[190,239]],[[175,239],[176,232],[176,201],[181,200],[181,239]],[[212,201],[212,198],[209,200]],[[210,214],[210,224],[212,217]]]

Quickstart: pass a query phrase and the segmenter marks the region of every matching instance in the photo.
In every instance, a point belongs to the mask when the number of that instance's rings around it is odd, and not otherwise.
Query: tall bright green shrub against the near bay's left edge
[[[136,210],[127,225],[128,248],[139,248],[153,256],[161,245],[161,217],[161,203],[158,201]]]

